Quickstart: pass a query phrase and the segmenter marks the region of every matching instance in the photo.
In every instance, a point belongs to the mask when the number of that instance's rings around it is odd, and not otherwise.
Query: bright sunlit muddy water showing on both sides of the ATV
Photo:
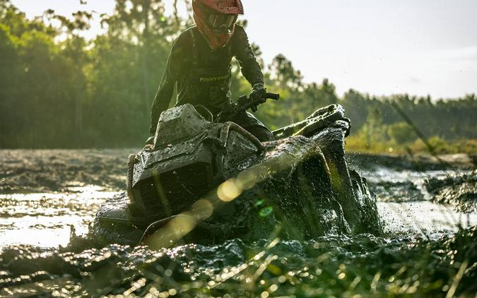
[[[29,244],[56,248],[76,235],[88,232],[96,211],[119,192],[84,186],[78,193],[29,193],[0,195],[0,246]],[[461,227],[477,225],[477,214],[459,213],[452,206],[430,201],[378,202],[389,234],[424,234],[440,237]]]

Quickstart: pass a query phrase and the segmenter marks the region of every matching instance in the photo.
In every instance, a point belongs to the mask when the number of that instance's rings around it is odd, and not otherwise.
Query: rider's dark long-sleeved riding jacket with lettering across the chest
[[[212,51],[194,26],[182,32],[172,44],[163,79],[151,112],[151,136],[155,135],[160,113],[169,107],[177,83],[176,105],[203,105],[214,114],[230,102],[230,61],[234,57],[251,85],[264,83],[264,75],[240,25],[228,44]]]

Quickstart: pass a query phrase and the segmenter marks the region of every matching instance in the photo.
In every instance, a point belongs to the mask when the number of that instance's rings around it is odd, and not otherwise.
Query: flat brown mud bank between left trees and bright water
[[[120,150],[0,150],[0,193],[74,191],[88,184],[126,186],[127,156]]]

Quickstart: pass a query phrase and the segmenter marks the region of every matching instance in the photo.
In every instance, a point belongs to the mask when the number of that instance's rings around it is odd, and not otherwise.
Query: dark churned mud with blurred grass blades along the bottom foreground
[[[477,230],[440,239],[238,239],[150,251],[15,246],[0,254],[4,297],[473,297]]]

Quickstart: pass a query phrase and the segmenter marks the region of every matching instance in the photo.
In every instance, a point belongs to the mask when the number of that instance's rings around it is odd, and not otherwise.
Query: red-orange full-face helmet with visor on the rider
[[[225,47],[232,38],[237,16],[244,13],[241,0],[193,0],[197,29],[212,49]]]

